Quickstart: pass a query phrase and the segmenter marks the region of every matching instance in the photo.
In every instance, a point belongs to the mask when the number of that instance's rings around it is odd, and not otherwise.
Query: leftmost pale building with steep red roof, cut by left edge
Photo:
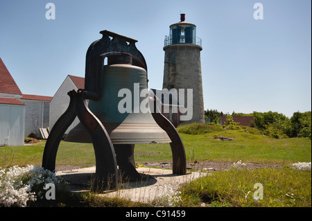
[[[0,145],[24,145],[25,104],[22,94],[0,58]]]

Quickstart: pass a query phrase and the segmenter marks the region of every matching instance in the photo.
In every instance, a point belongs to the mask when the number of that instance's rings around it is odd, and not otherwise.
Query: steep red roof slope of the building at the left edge
[[[10,75],[6,65],[0,58],[0,93],[5,94],[21,94],[15,80]]]

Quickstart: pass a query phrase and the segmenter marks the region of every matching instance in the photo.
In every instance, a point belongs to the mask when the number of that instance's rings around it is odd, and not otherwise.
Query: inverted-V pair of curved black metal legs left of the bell
[[[62,136],[78,116],[80,122],[83,123],[92,137],[94,146],[96,157],[94,189],[100,191],[115,189],[118,182],[118,173],[114,146],[110,141],[110,136],[108,136],[101,121],[87,107],[85,91],[81,89],[78,91],[73,90],[69,91],[68,95],[70,97],[69,107],[56,121],[46,141],[42,167],[51,171],[55,170],[56,154]]]

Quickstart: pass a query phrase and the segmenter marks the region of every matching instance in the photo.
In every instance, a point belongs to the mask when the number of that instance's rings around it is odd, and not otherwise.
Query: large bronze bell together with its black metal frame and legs
[[[140,105],[150,103],[150,98],[147,93],[140,96],[141,91],[147,92],[148,80],[145,59],[135,46],[137,40],[107,30],[101,33],[103,38],[93,42],[87,51],[85,89],[69,91],[69,107],[49,134],[42,166],[55,170],[60,139],[78,116],[80,123],[65,141],[93,143],[96,185],[115,189],[117,165],[124,177],[140,179],[135,170],[136,143],[170,143],[173,173],[185,175],[182,140],[170,121],[155,111],[156,99],[152,99],[151,112],[141,112]],[[125,95],[131,95],[130,103],[125,103],[127,111],[122,103],[123,90],[127,92]]]

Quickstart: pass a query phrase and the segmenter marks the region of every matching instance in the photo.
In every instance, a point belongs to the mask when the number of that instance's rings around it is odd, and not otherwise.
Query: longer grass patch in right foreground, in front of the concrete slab
[[[259,186],[254,188],[254,184],[262,185],[262,200],[254,199],[254,192],[259,192]],[[183,186],[181,192],[177,206],[206,202],[209,206],[311,207],[311,171],[224,170],[196,179]]]

